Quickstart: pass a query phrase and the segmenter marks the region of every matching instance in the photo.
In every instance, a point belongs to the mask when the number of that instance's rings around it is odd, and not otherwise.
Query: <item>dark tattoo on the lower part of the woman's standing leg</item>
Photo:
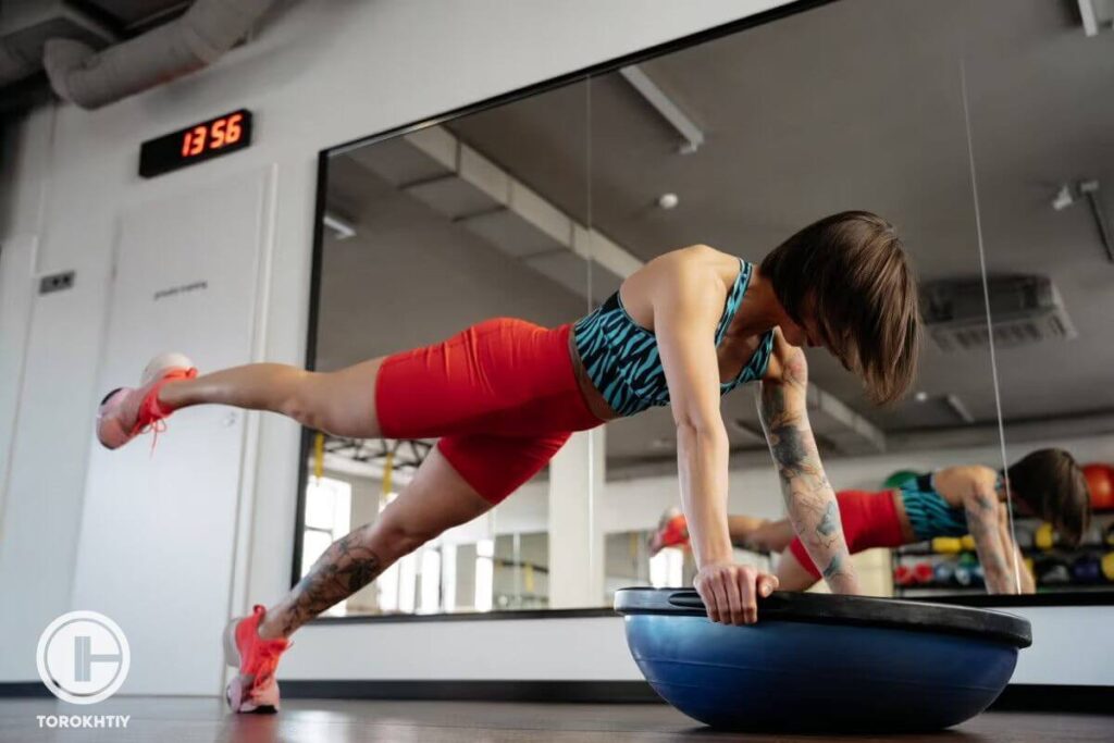
[[[371,525],[360,527],[333,542],[297,581],[283,622],[286,634],[356,593],[383,571],[382,560],[367,546],[370,528]]]

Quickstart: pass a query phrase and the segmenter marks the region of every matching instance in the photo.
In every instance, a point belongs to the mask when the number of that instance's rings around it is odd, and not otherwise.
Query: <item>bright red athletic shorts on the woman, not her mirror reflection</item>
[[[568,350],[553,330],[499,317],[388,356],[375,383],[383,436],[440,437],[438,449],[487,500],[501,501],[545,467],[588,410]]]

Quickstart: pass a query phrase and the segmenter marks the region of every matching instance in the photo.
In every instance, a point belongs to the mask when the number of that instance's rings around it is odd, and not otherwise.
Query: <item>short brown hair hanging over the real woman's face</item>
[[[833,214],[774,248],[760,271],[794,322],[815,315],[829,350],[876,402],[905,394],[920,353],[920,312],[893,225],[870,212]]]

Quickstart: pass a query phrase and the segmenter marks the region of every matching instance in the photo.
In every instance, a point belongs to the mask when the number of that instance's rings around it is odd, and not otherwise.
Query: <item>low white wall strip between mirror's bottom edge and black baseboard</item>
[[[1015,610],[1033,623],[1017,684],[1114,685],[1114,607]],[[637,681],[618,617],[551,620],[309,626],[284,659],[285,678],[488,678]],[[381,634],[372,634],[375,630]],[[390,642],[380,637],[390,632]],[[1091,648],[1079,652],[1081,645]],[[510,673],[512,675],[508,676]]]

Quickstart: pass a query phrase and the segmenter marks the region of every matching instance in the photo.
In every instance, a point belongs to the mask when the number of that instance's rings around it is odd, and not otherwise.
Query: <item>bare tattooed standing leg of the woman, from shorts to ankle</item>
[[[399,558],[491,507],[434,448],[377,521],[334,542],[299,584],[267,609],[260,637],[289,637],[374,580]]]

